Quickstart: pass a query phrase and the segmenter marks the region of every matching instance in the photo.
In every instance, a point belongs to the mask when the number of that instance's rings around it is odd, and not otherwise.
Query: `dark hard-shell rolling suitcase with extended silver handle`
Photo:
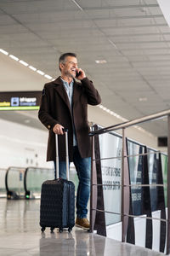
[[[40,226],[42,232],[46,227],[50,227],[52,232],[55,228],[59,228],[59,232],[68,228],[71,232],[75,225],[75,185],[69,181],[68,132],[65,131],[67,179],[59,178],[58,136],[55,138],[57,178],[42,183]]]

